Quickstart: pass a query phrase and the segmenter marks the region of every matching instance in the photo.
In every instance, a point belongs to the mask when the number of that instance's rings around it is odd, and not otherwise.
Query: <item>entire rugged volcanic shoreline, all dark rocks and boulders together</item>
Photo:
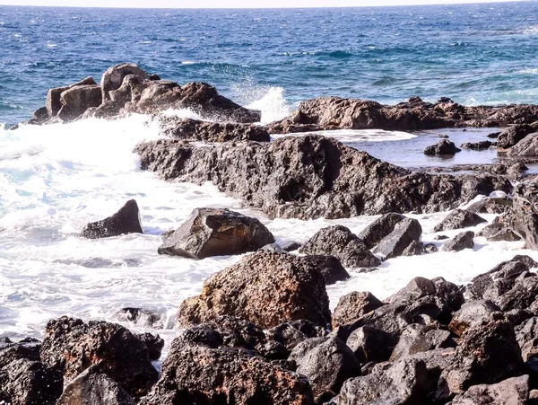
[[[159,111],[188,108],[206,120]],[[538,250],[538,201],[525,165],[538,159],[538,106],[464,107],[447,98],[385,106],[336,97],[303,101],[261,126],[209,84],[162,81],[133,64],[51,89],[29,123],[152,114],[163,138],[134,152],[163,180],[204,183],[271,218],[381,215],[361,233],[334,225],[308,242],[277,244],[256,218],[199,207],[163,235],[155,254],[204,260],[244,255],[178,303],[178,336],[163,340],[106,322],[62,317],[43,341],[0,341],[0,402],[115,404],[526,404],[538,403],[538,267],[528,256],[499,263],[467,286],[413,278],[385,300],[344,295],[331,313],[326,286],[348,270],[376,271],[388,259],[432,254],[409,214],[450,211],[436,232],[457,231],[442,249],[524,241]],[[471,174],[412,172],[330,136],[273,134],[330,129],[503,127],[495,145],[507,163]],[[204,143],[201,145],[200,143]],[[446,139],[427,154],[456,154]],[[523,159],[523,160],[520,160]],[[502,166],[502,167],[501,167]],[[457,172],[457,171],[456,171]],[[496,191],[496,194],[491,194]],[[490,196],[470,203],[479,195]],[[466,204],[465,208],[461,208]],[[475,235],[469,228],[494,222]],[[88,224],[82,237],[143,233],[139,207]],[[464,263],[462,263],[464,266]],[[218,270],[218,269],[216,269]],[[126,308],[129,319],[152,313]],[[155,362],[162,361],[159,372]]]

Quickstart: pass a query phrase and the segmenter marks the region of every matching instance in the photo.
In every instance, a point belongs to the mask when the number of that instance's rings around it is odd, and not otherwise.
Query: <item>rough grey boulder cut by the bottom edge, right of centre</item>
[[[426,402],[428,369],[421,360],[375,365],[372,372],[343,383],[330,405],[407,404]]]

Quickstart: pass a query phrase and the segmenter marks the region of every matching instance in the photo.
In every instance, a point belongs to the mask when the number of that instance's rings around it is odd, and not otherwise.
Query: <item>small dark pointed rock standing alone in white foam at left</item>
[[[88,239],[108,238],[125,233],[143,233],[138,205],[134,199],[127,201],[113,216],[88,224],[82,230],[82,236]]]

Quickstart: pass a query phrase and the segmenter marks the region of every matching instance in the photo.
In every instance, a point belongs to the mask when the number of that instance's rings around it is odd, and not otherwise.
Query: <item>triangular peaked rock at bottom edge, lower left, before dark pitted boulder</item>
[[[107,374],[100,365],[91,365],[65,391],[56,405],[134,405],[133,398]]]

